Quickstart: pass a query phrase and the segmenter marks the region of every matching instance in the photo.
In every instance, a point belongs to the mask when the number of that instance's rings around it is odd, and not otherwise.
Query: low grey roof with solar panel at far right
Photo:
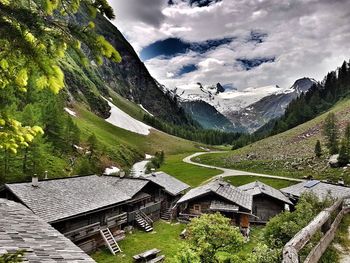
[[[334,198],[350,196],[350,187],[323,183],[317,180],[301,182],[282,188],[281,191],[296,197],[300,197],[305,192],[313,192],[319,198],[324,198],[328,193]]]

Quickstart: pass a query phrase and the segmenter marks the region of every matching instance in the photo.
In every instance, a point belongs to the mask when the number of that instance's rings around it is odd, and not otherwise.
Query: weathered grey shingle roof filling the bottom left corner
[[[25,250],[24,262],[95,262],[22,204],[0,199],[0,255]]]

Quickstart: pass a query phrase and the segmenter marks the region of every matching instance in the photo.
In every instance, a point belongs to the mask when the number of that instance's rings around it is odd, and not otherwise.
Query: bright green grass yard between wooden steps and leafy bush
[[[166,262],[169,262],[169,259],[179,251],[179,245],[183,242],[179,235],[184,229],[184,224],[169,224],[158,221],[154,224],[154,231],[151,233],[135,230],[132,234],[127,234],[126,238],[119,242],[123,252],[118,255],[113,256],[109,250],[103,249],[91,256],[96,262],[101,263],[131,263],[133,262],[132,256],[152,248],[158,248],[161,250],[159,255],[165,255]]]

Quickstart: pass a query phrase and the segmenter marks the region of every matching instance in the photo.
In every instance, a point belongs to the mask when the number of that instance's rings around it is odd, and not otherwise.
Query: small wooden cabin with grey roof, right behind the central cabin
[[[259,181],[238,188],[253,197],[252,212],[255,217],[251,217],[250,221],[254,223],[266,223],[270,218],[283,212],[286,206],[293,206],[280,190]]]

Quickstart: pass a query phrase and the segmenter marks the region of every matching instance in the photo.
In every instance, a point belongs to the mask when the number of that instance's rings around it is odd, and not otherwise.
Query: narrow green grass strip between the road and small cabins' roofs
[[[224,180],[234,186],[241,186],[244,184],[249,184],[251,182],[260,181],[276,189],[281,189],[297,183],[297,182],[292,182],[288,180],[264,178],[264,177],[258,177],[258,176],[250,176],[250,175],[230,176],[230,177],[225,177]]]

